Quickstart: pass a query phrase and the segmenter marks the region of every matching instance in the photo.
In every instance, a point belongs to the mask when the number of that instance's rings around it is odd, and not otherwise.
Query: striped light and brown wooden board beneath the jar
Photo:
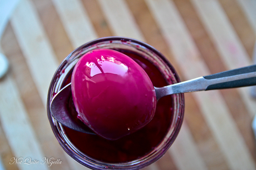
[[[46,97],[60,62],[98,37],[136,38],[161,51],[182,81],[252,64],[254,0],[21,0],[1,38],[0,160],[5,169],[87,169],[59,146]],[[147,170],[256,169],[251,88],[185,94],[185,119]],[[26,165],[12,158],[60,159]],[[23,162],[24,162],[23,160]]]

